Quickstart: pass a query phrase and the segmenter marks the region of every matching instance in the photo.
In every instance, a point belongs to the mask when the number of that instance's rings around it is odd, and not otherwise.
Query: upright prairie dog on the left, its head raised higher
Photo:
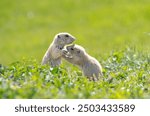
[[[75,41],[75,37],[69,33],[65,32],[55,35],[54,40],[47,49],[41,64],[50,64],[51,67],[59,66],[61,64],[62,49],[65,45],[71,44],[73,41]]]

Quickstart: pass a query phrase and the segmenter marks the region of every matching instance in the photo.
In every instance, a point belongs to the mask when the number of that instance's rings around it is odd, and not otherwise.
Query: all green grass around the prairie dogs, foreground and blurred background
[[[0,0],[0,98],[150,98],[149,21],[149,0]],[[102,63],[99,82],[40,65],[58,32]]]

